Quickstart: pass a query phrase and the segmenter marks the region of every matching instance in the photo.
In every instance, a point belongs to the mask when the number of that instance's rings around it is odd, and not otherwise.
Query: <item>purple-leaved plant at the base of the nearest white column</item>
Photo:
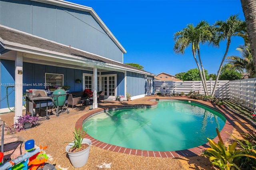
[[[24,115],[24,116],[18,116],[18,120],[14,125],[14,129],[16,129],[18,132],[20,130],[28,129],[31,127],[35,127],[39,125],[39,119],[37,116],[31,117],[30,115]]]

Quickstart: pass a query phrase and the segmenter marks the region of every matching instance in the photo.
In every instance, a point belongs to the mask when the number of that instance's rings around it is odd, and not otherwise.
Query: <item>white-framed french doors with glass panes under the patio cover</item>
[[[105,97],[116,96],[116,75],[102,75],[101,87]]]

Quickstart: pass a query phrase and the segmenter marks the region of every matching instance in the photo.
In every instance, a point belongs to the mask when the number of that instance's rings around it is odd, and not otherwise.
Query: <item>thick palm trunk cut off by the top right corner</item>
[[[254,70],[256,70],[256,0],[241,0],[241,4],[249,35]]]

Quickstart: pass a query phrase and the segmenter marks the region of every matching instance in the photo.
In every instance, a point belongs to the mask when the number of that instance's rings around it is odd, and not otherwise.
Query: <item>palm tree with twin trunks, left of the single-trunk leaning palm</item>
[[[202,61],[200,58],[199,44],[200,43],[204,44],[206,42],[211,43],[211,40],[213,40],[213,36],[209,36],[211,33],[211,30],[209,30],[209,28],[210,26],[207,22],[201,21],[196,27],[194,27],[193,24],[188,24],[186,28],[174,34],[174,41],[175,41],[174,52],[175,53],[184,54],[185,49],[191,45],[192,54],[193,54],[194,60],[196,61],[196,65],[199,69],[200,77],[202,79],[202,84],[204,87],[204,93],[206,95],[208,95],[208,91],[206,87],[204,67],[202,65]],[[198,52],[198,58],[199,58],[201,67],[196,58],[196,50]]]

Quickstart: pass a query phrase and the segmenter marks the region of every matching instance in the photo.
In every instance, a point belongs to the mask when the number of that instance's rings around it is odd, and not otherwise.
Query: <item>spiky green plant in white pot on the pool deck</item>
[[[70,162],[75,168],[84,166],[88,160],[92,141],[88,138],[84,138],[86,131],[83,134],[83,130],[80,131],[78,128],[77,131],[75,128],[75,132],[73,132],[74,141],[66,146],[66,152],[68,153]]]

